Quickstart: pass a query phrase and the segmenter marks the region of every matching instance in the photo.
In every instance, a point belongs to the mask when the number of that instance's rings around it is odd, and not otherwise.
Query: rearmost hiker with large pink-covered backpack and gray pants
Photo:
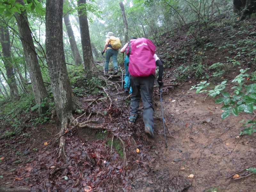
[[[131,44],[129,68],[132,96],[129,122],[135,123],[142,99],[145,132],[154,138],[154,107],[152,102],[156,65],[159,67],[157,83],[163,86],[163,64],[155,54],[155,45],[146,38],[138,38]]]

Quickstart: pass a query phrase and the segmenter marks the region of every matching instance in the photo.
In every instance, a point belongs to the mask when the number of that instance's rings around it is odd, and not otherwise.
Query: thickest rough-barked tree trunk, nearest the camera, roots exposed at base
[[[56,112],[60,121],[75,110],[75,98],[69,83],[64,57],[62,14],[63,0],[46,1],[46,61],[51,78]]]

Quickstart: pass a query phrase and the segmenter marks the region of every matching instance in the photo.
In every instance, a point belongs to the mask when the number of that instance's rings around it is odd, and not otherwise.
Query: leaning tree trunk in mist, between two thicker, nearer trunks
[[[83,63],[83,60],[82,60],[82,58],[80,56],[80,53],[79,53],[77,45],[76,45],[76,40],[75,40],[75,36],[74,36],[74,32],[73,32],[72,26],[70,24],[69,14],[68,13],[64,14],[64,22],[65,22],[65,26],[67,28],[68,39],[69,39],[69,43],[70,43],[70,47],[71,47],[73,58],[75,60],[75,65],[80,65],[80,64]]]

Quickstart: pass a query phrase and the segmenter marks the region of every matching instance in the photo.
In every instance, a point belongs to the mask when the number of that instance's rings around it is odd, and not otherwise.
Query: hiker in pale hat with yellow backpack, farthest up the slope
[[[112,75],[116,75],[117,72],[117,54],[118,54],[118,49],[121,48],[121,42],[120,39],[114,36],[114,33],[108,32],[108,35],[106,36],[107,39],[105,41],[105,46],[101,54],[103,55],[104,52],[106,51],[106,60],[104,64],[104,73],[108,74],[108,64],[110,57],[112,57],[112,62],[113,62],[113,68],[114,71]]]

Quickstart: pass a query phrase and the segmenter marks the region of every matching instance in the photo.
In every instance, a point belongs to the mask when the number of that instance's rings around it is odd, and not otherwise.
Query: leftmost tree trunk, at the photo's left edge
[[[10,35],[9,30],[7,27],[0,26],[0,40],[2,45],[2,51],[4,56],[4,67],[6,70],[7,76],[7,84],[10,87],[10,96],[16,97],[18,96],[18,88],[15,80],[14,70],[11,63],[8,60],[11,59],[11,42],[10,42]]]

